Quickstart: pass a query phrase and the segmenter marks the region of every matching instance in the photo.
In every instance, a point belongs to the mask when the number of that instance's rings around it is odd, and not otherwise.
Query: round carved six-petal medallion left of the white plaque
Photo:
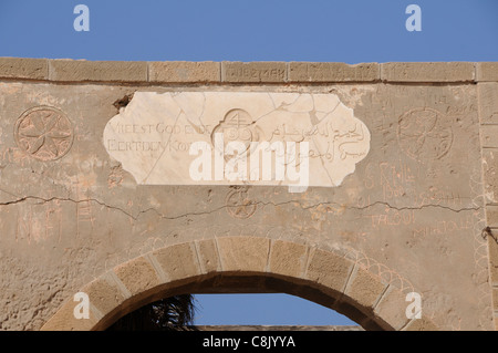
[[[65,155],[73,144],[73,127],[61,111],[38,106],[24,112],[14,129],[15,142],[31,157],[48,162]]]

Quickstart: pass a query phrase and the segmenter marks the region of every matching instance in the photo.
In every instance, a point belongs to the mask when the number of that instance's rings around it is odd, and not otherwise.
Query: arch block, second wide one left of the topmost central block
[[[114,272],[132,295],[145,292],[160,283],[153,264],[144,257],[117,266]]]

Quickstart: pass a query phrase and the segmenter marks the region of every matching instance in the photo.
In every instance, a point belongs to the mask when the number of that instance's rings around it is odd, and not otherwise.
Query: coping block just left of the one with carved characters
[[[207,83],[221,81],[221,64],[212,61],[154,61],[148,63],[153,83]]]

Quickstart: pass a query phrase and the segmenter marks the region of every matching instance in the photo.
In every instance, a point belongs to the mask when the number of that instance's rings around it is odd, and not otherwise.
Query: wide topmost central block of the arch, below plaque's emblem
[[[217,238],[224,271],[264,272],[270,241],[259,237]]]

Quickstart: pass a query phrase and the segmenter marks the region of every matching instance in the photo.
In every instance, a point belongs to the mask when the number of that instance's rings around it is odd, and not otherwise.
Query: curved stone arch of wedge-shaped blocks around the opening
[[[437,330],[408,320],[406,294],[344,251],[262,237],[220,237],[167,246],[118,264],[81,289],[90,319],[70,298],[42,330],[105,330],[149,302],[180,293],[284,292],[317,302],[366,330]]]

